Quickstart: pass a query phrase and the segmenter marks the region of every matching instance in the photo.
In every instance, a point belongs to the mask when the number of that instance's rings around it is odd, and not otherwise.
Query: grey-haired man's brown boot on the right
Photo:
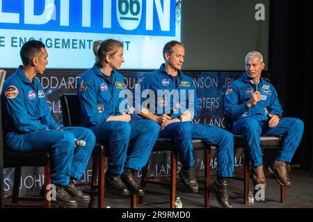
[[[275,160],[274,164],[271,166],[271,170],[280,185],[291,187],[292,183],[287,174],[290,172],[289,164],[284,161]]]

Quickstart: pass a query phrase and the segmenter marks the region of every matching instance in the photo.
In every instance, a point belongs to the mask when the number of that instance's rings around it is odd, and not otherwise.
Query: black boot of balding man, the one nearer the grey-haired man
[[[218,201],[220,207],[232,208],[232,205],[230,204],[230,196],[228,194],[229,187],[229,178],[217,178],[210,186],[210,189],[215,194],[216,200]]]

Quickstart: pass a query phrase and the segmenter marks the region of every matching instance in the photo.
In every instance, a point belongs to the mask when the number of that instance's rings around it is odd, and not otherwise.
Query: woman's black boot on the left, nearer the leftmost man
[[[120,175],[116,175],[110,172],[106,172],[105,186],[109,188],[114,194],[127,197],[129,196],[129,190],[125,183],[120,178]]]

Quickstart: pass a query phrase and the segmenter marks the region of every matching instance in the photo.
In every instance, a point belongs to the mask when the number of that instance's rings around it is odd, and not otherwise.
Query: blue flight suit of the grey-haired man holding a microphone
[[[233,133],[243,135],[254,167],[262,164],[262,151],[259,146],[261,134],[284,136],[282,150],[276,160],[291,162],[303,135],[303,121],[291,117],[282,118],[282,106],[275,88],[263,78],[258,85],[258,91],[261,93],[261,101],[248,108],[247,102],[255,92],[255,85],[250,83],[244,73],[241,78],[230,84],[225,93],[224,114],[234,121]],[[277,114],[281,118],[274,128],[268,126],[268,114]]]

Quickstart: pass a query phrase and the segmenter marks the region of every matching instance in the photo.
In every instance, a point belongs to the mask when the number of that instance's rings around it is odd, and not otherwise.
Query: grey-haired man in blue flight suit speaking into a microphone
[[[246,56],[246,73],[235,80],[225,94],[225,116],[233,122],[233,133],[243,135],[253,164],[253,184],[266,186],[262,164],[260,135],[283,136],[279,155],[271,166],[273,175],[286,187],[291,186],[287,175],[289,163],[303,135],[303,121],[282,118],[282,107],[275,88],[261,78],[264,61],[261,53],[251,51]]]

